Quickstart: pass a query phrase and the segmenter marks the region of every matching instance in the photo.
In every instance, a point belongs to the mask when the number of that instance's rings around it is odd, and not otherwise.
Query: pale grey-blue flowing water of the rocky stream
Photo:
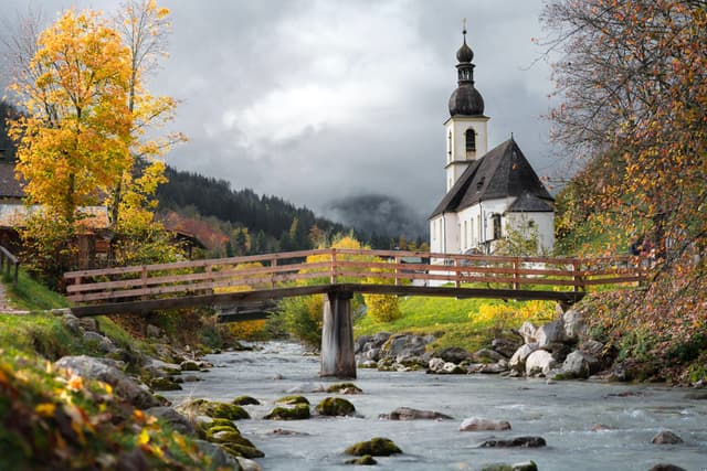
[[[686,470],[707,470],[707,400],[690,399],[692,389],[592,382],[547,384],[494,375],[426,375],[358,370],[361,395],[349,399],[361,417],[263,420],[274,400],[302,390],[314,406],[330,394],[310,393],[337,381],[319,378],[317,356],[293,343],[265,343],[254,352],[209,355],[215,367],[199,373],[202,382],[166,394],[178,404],[188,397],[230,402],[240,395],[258,399],[246,406],[251,420],[236,425],[265,453],[264,470],[351,470],[342,454],[348,446],[388,437],[403,454],[377,458],[379,470],[478,470],[484,464],[534,460],[541,471],[648,470],[669,462]],[[391,421],[379,414],[397,407],[435,410],[454,420]],[[462,432],[464,418],[508,420],[510,431]],[[602,424],[610,428],[592,431]],[[297,435],[273,435],[282,428]],[[652,445],[661,430],[683,438],[679,445]],[[537,449],[477,448],[489,438],[541,436]]]

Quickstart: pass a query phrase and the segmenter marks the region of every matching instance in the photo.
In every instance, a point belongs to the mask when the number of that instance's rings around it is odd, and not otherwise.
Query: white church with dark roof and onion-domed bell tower
[[[488,151],[484,99],[474,87],[474,53],[456,52],[457,88],[450,97],[446,194],[430,216],[430,248],[444,254],[495,254],[509,232],[555,243],[555,200],[513,138]]]

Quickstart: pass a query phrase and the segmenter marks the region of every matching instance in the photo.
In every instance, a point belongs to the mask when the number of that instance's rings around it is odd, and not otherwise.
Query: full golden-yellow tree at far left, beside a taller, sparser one
[[[96,13],[65,12],[42,32],[11,88],[28,115],[10,121],[30,203],[70,224],[130,167],[127,50]]]

